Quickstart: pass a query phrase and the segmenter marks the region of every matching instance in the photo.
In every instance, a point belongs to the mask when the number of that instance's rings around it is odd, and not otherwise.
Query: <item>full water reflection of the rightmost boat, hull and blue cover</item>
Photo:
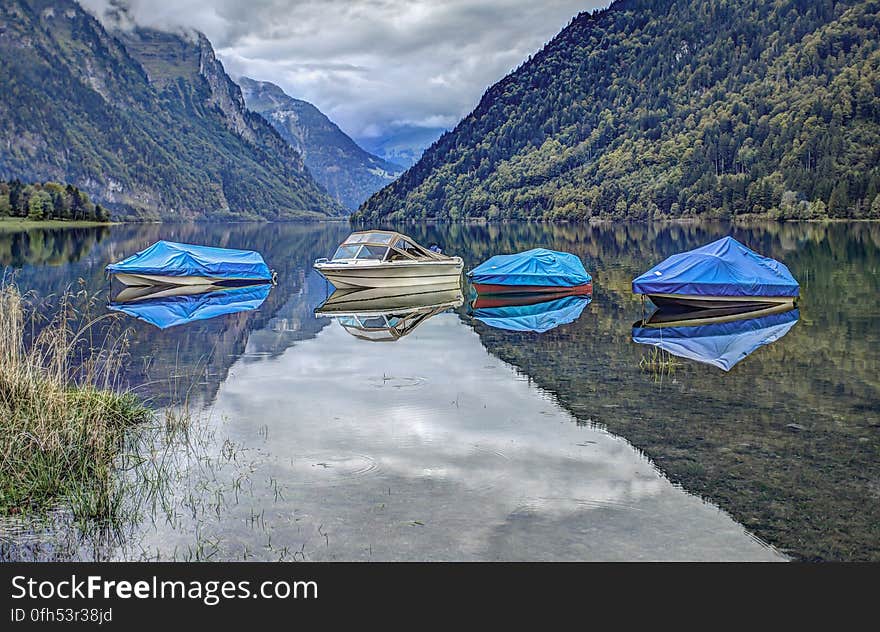
[[[633,341],[653,345],[730,371],[764,345],[794,327],[800,312],[792,304],[690,311],[661,308],[633,326]]]

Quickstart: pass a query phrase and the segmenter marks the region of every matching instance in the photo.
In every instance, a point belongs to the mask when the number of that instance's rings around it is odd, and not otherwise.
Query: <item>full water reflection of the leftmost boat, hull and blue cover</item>
[[[110,301],[114,311],[168,329],[196,320],[258,309],[272,285],[152,285],[125,287]]]

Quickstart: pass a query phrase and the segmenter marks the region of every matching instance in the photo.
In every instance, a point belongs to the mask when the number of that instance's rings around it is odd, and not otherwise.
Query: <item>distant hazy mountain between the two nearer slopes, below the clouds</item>
[[[238,84],[247,107],[302,154],[315,180],[347,209],[355,210],[403,171],[361,149],[308,101],[294,99],[268,81],[241,77]]]

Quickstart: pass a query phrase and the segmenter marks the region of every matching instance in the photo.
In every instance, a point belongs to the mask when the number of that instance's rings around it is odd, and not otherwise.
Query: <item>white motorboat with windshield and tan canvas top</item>
[[[464,262],[420,246],[396,231],[368,230],[349,235],[332,259],[314,268],[338,289],[461,285]]]

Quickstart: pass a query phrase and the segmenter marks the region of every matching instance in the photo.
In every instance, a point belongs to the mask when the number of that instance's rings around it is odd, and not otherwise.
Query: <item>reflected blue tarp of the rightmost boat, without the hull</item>
[[[753,351],[782,338],[798,318],[800,312],[793,309],[729,323],[633,327],[633,341],[729,371]]]

